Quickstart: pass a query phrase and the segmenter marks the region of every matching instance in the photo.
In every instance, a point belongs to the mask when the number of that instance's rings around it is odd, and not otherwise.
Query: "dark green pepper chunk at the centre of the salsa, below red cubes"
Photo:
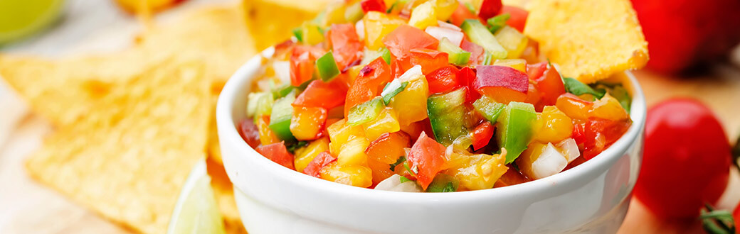
[[[465,117],[465,89],[456,89],[446,94],[431,95],[427,99],[427,114],[431,130],[437,142],[450,145],[457,137],[465,134],[462,119]]]

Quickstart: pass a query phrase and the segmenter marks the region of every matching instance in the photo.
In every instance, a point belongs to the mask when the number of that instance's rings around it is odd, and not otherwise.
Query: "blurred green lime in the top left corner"
[[[63,0],[0,0],[0,44],[33,34],[53,22]]]

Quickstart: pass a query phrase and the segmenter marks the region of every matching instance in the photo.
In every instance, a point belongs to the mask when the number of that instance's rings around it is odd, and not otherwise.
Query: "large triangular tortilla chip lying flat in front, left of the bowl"
[[[186,176],[206,156],[209,89],[200,63],[151,68],[49,137],[27,169],[102,216],[165,233]]]

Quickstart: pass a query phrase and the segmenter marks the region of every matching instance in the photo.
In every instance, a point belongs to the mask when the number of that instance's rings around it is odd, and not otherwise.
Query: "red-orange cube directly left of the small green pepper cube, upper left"
[[[314,62],[323,55],[323,49],[299,45],[293,47],[290,56],[290,83],[300,86],[314,75]]]

